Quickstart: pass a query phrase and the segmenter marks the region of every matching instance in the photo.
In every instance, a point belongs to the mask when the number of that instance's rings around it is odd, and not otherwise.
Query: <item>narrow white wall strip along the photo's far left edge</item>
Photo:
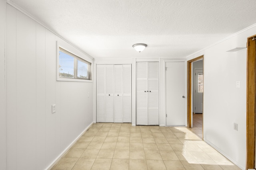
[[[6,169],[6,99],[5,99],[5,13],[6,1],[0,0],[0,169]]]

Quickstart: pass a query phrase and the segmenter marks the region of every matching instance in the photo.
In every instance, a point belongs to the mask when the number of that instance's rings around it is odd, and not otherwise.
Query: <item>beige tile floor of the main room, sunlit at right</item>
[[[240,170],[191,128],[95,123],[52,170]]]

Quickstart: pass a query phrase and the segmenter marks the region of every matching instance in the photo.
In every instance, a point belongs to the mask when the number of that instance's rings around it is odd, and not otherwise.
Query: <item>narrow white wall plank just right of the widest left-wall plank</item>
[[[36,24],[36,169],[45,166],[45,28]]]

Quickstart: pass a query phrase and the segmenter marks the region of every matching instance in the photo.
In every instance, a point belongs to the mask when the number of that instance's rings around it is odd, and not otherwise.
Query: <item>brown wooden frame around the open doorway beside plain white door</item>
[[[191,102],[192,102],[192,95],[191,95],[191,92],[192,92],[192,72],[191,72],[191,69],[192,69],[192,63],[194,62],[194,61],[198,61],[198,60],[200,60],[200,59],[204,59],[204,55],[201,55],[201,56],[199,56],[199,57],[196,57],[196,58],[194,58],[194,59],[192,59],[192,60],[189,60],[188,61],[188,66],[187,66],[187,117],[188,117],[188,119],[187,119],[187,125],[188,125],[188,127],[191,127],[191,116],[192,116],[192,114],[191,114],[191,108],[192,108],[192,104],[191,104]],[[203,70],[204,70],[204,67],[203,67]],[[204,99],[203,99],[203,101],[204,101]],[[203,113],[204,113],[204,110],[203,110]]]

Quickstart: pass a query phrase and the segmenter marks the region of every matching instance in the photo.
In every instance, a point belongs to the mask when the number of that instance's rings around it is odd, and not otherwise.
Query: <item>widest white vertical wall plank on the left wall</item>
[[[17,167],[33,170],[36,169],[36,22],[19,11],[16,14]]]

